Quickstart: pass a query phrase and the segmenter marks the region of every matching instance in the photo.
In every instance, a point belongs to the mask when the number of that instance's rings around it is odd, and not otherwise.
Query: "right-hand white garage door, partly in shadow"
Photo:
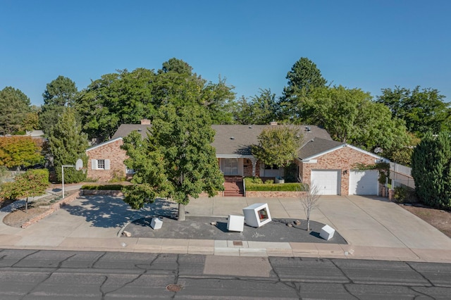
[[[378,170],[351,170],[350,195],[377,195]]]

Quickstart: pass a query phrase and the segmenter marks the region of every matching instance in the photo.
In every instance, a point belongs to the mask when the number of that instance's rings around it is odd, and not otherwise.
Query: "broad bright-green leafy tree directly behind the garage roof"
[[[398,149],[409,144],[404,122],[392,118],[383,104],[361,89],[342,86],[313,89],[302,97],[302,119],[323,126],[333,139],[372,151]]]

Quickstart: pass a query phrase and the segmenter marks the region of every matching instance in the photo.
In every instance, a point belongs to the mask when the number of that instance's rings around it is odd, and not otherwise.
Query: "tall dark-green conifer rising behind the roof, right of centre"
[[[296,123],[299,120],[299,102],[303,96],[309,96],[312,89],[325,87],[327,80],[321,75],[316,64],[307,57],[299,58],[287,73],[288,84],[283,88],[280,98],[280,119]]]

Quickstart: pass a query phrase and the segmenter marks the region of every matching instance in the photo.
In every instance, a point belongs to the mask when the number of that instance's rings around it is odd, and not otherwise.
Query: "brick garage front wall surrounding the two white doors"
[[[316,158],[316,161],[316,163],[301,163],[299,175],[302,177],[302,182],[310,185],[311,170],[341,170],[340,194],[347,195],[350,190],[350,170],[357,163],[373,165],[376,163],[376,158],[345,146]]]

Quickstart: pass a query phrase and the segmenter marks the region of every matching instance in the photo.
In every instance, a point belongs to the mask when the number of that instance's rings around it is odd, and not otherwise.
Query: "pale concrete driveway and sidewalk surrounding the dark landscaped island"
[[[268,203],[273,218],[305,218],[299,200],[292,198],[200,198],[192,199],[186,211],[187,216],[242,215],[242,208],[254,203]],[[0,219],[7,211],[0,211]],[[450,238],[380,197],[321,197],[312,220],[334,227],[347,240],[347,245],[120,236],[122,228],[132,220],[176,211],[177,206],[170,201],[160,201],[135,211],[120,197],[82,196],[25,229],[1,222],[0,247],[451,263]]]

